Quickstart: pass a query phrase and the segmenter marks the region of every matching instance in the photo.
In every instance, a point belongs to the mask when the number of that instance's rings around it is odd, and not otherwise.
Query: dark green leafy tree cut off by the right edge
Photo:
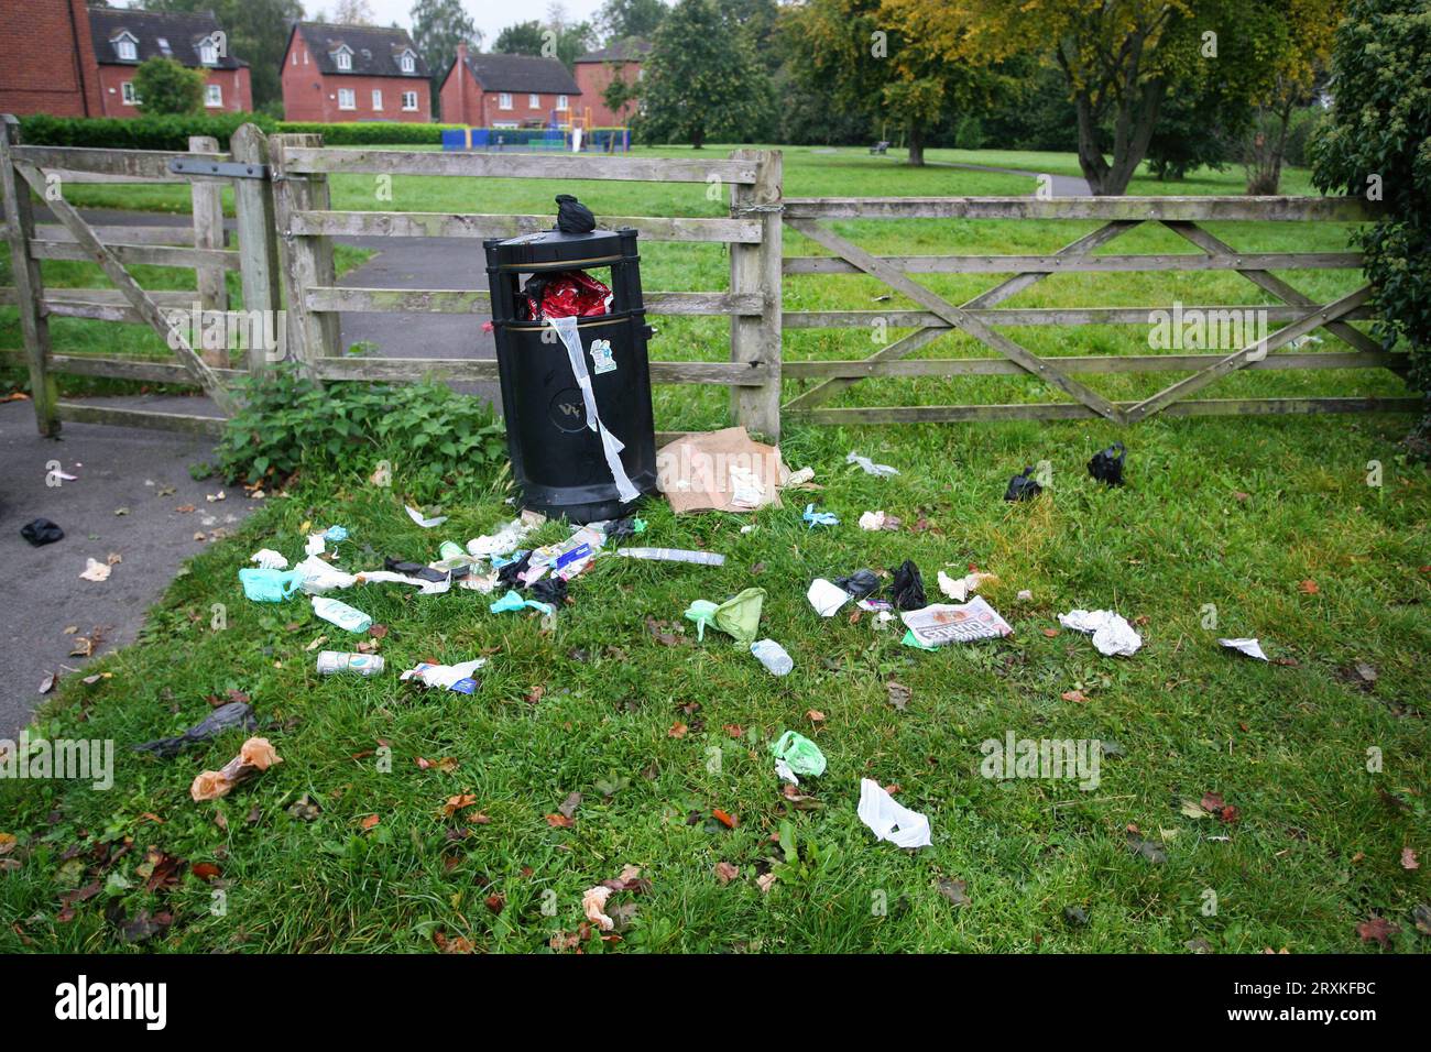
[[[1411,382],[1431,391],[1431,1],[1351,0],[1332,47],[1331,120],[1312,142],[1321,190],[1379,200],[1359,235],[1387,348],[1404,342]],[[1428,404],[1431,408],[1431,404]],[[1431,455],[1431,412],[1412,442]]]

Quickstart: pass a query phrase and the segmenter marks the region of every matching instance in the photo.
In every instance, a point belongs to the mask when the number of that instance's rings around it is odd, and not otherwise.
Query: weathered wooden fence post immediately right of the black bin
[[[760,316],[731,315],[730,359],[767,366],[760,386],[731,389],[736,422],[770,442],[780,439],[780,309],[781,309],[781,166],[780,150],[736,150],[731,160],[754,160],[756,183],[733,183],[730,213],[760,220],[758,245],[730,246],[730,291],[761,296]]]

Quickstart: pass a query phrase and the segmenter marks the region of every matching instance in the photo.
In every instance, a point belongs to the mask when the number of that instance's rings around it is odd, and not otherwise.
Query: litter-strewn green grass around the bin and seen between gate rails
[[[1009,163],[1006,155],[980,156]],[[1238,192],[1232,173],[1209,179],[1221,192]],[[399,177],[395,200],[376,202],[369,180],[333,180],[336,208],[538,212],[560,189],[567,187]],[[723,205],[707,202],[704,190],[578,187],[598,215],[720,215]],[[1029,185],[796,149],[787,150],[786,192],[1027,193]],[[892,253],[1052,250],[1092,228],[836,225]],[[1241,250],[1335,250],[1347,239],[1332,225],[1212,229]],[[787,238],[787,253],[810,250]],[[1105,250],[1181,245],[1171,233],[1139,229]],[[643,256],[647,288],[726,285],[716,246],[648,245]],[[1358,279],[1284,276],[1314,296],[1348,291]],[[997,281],[920,279],[966,298]],[[786,289],[788,309],[883,309],[871,303],[880,286],[857,276],[791,278]],[[1262,302],[1235,273],[1059,275],[1007,305],[1173,298]],[[665,318],[658,326],[654,356],[727,354],[720,319]],[[10,331],[0,322],[0,344]],[[1010,335],[1040,354],[1148,352],[1138,326]],[[876,349],[863,331],[787,331],[786,348],[793,359]],[[1322,349],[1334,349],[1332,341]],[[930,356],[960,354],[989,352],[959,335],[930,349]],[[1175,375],[1089,379],[1128,398]],[[787,395],[794,391],[790,384]],[[1209,391],[1276,394],[1404,394],[1404,386],[1377,371],[1319,371],[1238,375]],[[881,379],[851,386],[831,405],[1049,398],[1019,378]],[[664,386],[655,401],[661,428],[727,422],[727,396],[716,388]],[[610,903],[637,906],[631,926],[620,942],[582,942],[587,952],[1181,953],[1189,942],[1216,952],[1379,952],[1357,932],[1372,916],[1398,926],[1391,949],[1425,952],[1414,910],[1431,902],[1431,883],[1424,866],[1404,867],[1411,860],[1404,852],[1431,850],[1431,485],[1424,468],[1400,455],[1408,422],[1155,418],[1122,432],[1099,422],[790,427],[781,442],[787,462],[814,467],[824,492],[796,492],[783,510],[746,518],[677,520],[664,505],[645,512],[647,542],[724,552],[723,568],[600,560],[572,583],[574,604],[551,634],[535,615],[489,613],[488,597],[477,593],[419,597],[372,585],[343,598],[388,625],[386,673],[319,677],[308,650],[313,640],[352,648],[356,637],[316,620],[302,598],[248,603],[236,571],[249,552],[269,547],[292,558],[302,550],[302,524],[339,522],[352,531],[341,545],[343,568],[373,567],[389,554],[426,561],[439,540],[465,541],[512,514],[502,502],[509,494],[494,481],[451,494],[444,507],[451,521],[419,530],[402,511],[404,451],[371,451],[341,477],[299,479],[236,538],[193,560],[136,646],[86,666],[86,674],[110,678],[62,681],[31,733],[113,739],[114,787],[0,781],[0,832],[16,837],[0,859],[0,915],[9,922],[0,950],[428,952],[441,943],[529,952],[577,932],[582,892],[633,865],[650,887],[618,892]],[[1096,485],[1083,468],[1113,438],[1129,444],[1123,490]],[[846,467],[850,449],[902,474],[876,479]],[[378,457],[395,462],[394,490],[366,482]],[[1049,491],[1030,504],[1005,504],[1009,477],[1037,461],[1052,465]],[[1368,485],[1369,461],[1382,465],[1379,487]],[[811,495],[841,524],[807,530],[800,510]],[[860,512],[876,508],[906,527],[859,530]],[[746,522],[754,531],[743,534]],[[537,540],[561,535],[552,524]],[[869,615],[851,623],[846,610],[821,620],[804,598],[814,577],[887,570],[906,558],[920,565],[932,598],[940,568],[999,574],[983,594],[1015,634],[923,653],[900,646],[897,631],[876,630]],[[750,585],[768,593],[761,635],[794,658],[786,678],[768,676],[728,637],[697,643],[694,627],[681,623],[693,600],[720,601]],[[1020,601],[1022,590],[1032,598]],[[215,603],[226,607],[222,630],[213,627]],[[1206,627],[1209,604],[1215,628]],[[1075,607],[1113,607],[1136,620],[1143,648],[1130,658],[1100,657],[1088,637],[1058,627],[1056,615]],[[675,633],[673,646],[651,631],[650,618]],[[1259,637],[1282,663],[1226,651],[1219,635]],[[484,653],[489,664],[472,696],[396,680],[419,660]],[[890,680],[912,690],[903,711],[887,703]],[[243,733],[175,760],[126,746],[192,726],[209,711],[206,696],[229,690],[249,696],[283,763],[226,800],[195,804],[193,776],[222,766]],[[813,797],[806,807],[783,797],[773,773],[768,743],[784,730],[811,736],[829,759],[823,777],[804,781]],[[1100,784],[1089,792],[1073,780],[982,777],[980,743],[1010,731],[1099,739],[1116,743],[1116,756],[1105,757]],[[381,761],[385,749],[391,770]],[[1379,773],[1368,771],[1368,750],[1378,750],[1371,756],[1381,757]],[[419,757],[449,763],[424,769]],[[897,799],[930,817],[933,846],[906,852],[876,842],[856,816],[861,777],[899,786]],[[571,793],[582,794],[572,824],[551,824],[547,816]],[[1185,813],[1186,802],[1205,793],[1235,806],[1235,820]],[[290,813],[305,794],[321,809],[311,820]],[[444,803],[461,794],[472,796],[474,809],[445,816]],[[736,827],[714,820],[716,809]],[[472,812],[489,822],[467,822]],[[780,846],[771,837],[783,823]],[[1161,849],[1136,852],[1130,827]],[[0,850],[6,843],[0,839]],[[176,885],[153,880],[150,847],[190,866],[210,863],[215,883],[192,872]],[[756,879],[771,860],[788,865],[763,892]],[[738,867],[738,876],[723,886],[718,863]],[[950,902],[940,882],[964,882],[967,903]],[[150,883],[159,890],[147,890]],[[222,915],[212,909],[219,886]],[[1066,919],[1075,907],[1086,923]],[[173,923],[163,933],[137,946],[122,940],[122,923],[165,912]]]

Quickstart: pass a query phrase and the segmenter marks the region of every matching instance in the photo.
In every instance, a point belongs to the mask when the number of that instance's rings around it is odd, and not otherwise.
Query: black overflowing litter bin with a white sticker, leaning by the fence
[[[651,329],[635,240],[635,230],[622,229],[484,242],[512,477],[524,507],[534,511],[595,522],[620,518],[635,504],[621,498],[602,439],[588,427],[565,344],[545,319],[532,316],[539,295],[524,295],[524,285],[531,293],[562,272],[584,272],[611,289],[605,313],[577,319],[581,354],[600,425],[624,447],[618,457],[625,475],[640,494],[657,492],[645,352]]]

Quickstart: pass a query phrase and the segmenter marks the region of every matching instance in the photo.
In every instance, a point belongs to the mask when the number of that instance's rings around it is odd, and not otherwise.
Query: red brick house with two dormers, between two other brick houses
[[[402,29],[296,21],[283,53],[283,116],[431,123],[426,63]]]

